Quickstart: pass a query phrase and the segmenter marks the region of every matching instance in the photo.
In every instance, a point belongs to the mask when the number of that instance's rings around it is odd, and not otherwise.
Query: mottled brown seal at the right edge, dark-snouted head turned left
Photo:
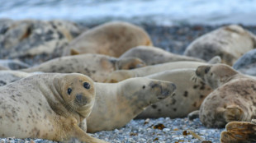
[[[206,127],[224,127],[233,121],[256,118],[256,80],[225,64],[200,66],[196,74],[210,85],[210,95],[200,107],[199,118]]]

